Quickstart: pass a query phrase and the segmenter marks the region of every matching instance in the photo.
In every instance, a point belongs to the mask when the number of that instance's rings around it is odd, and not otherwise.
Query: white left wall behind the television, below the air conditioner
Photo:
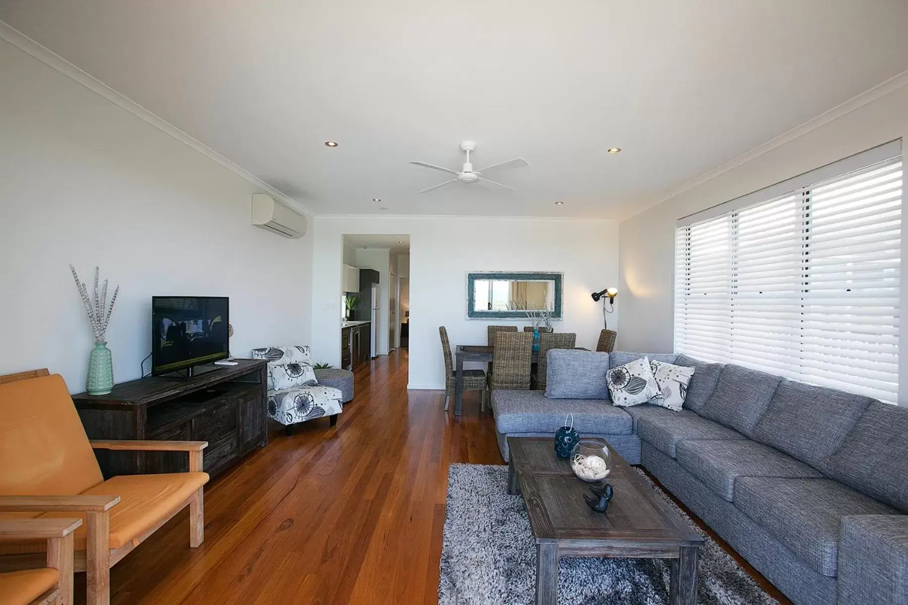
[[[0,374],[48,367],[84,390],[93,336],[70,263],[121,286],[118,382],[151,350],[152,295],[230,297],[237,356],[309,342],[311,220],[303,239],[252,227],[252,183],[2,41],[0,73]]]

